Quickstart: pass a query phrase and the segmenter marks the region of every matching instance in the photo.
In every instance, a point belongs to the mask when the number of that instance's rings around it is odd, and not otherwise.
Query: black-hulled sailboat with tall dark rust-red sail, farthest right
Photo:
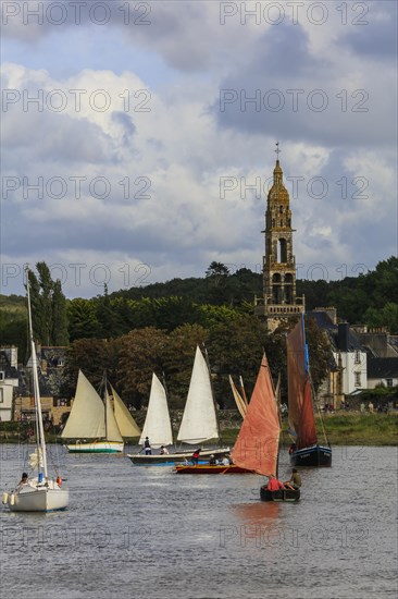
[[[303,315],[287,335],[287,380],[289,432],[295,440],[289,449],[291,465],[332,466],[332,449],[324,428],[325,444],[318,442]],[[323,427],[321,413],[320,417]]]

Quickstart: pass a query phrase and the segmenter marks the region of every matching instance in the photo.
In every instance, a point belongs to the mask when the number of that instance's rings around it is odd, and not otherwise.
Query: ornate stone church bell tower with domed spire
[[[268,195],[265,212],[265,256],[263,257],[263,297],[256,298],[254,314],[273,331],[281,320],[304,311],[303,297],[296,297],[296,258],[293,253],[291,210],[289,194],[283,183],[278,160]]]

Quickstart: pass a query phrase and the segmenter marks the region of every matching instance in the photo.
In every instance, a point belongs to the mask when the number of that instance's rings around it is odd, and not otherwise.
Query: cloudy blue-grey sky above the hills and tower
[[[299,279],[397,255],[397,2],[1,2],[1,293],[261,272],[276,160]]]

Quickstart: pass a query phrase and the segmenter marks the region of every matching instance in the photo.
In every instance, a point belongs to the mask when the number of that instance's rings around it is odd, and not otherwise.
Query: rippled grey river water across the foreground
[[[0,451],[4,489],[24,464],[17,447]],[[2,599],[397,595],[396,448],[334,448],[332,468],[301,470],[296,504],[261,502],[254,475],[182,476],[58,451],[70,509],[0,513]]]

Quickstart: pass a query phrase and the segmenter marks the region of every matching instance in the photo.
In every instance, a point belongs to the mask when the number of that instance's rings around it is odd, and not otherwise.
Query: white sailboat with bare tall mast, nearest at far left
[[[39,378],[37,371],[37,354],[33,333],[29,269],[26,267],[27,308],[29,321],[29,341],[32,352],[32,371],[36,416],[36,451],[30,454],[29,462],[33,477],[23,475],[16,489],[2,494],[2,503],[12,512],[52,512],[65,510],[69,504],[69,491],[62,486],[61,476],[51,477],[48,474],[47,448],[41,416]]]

